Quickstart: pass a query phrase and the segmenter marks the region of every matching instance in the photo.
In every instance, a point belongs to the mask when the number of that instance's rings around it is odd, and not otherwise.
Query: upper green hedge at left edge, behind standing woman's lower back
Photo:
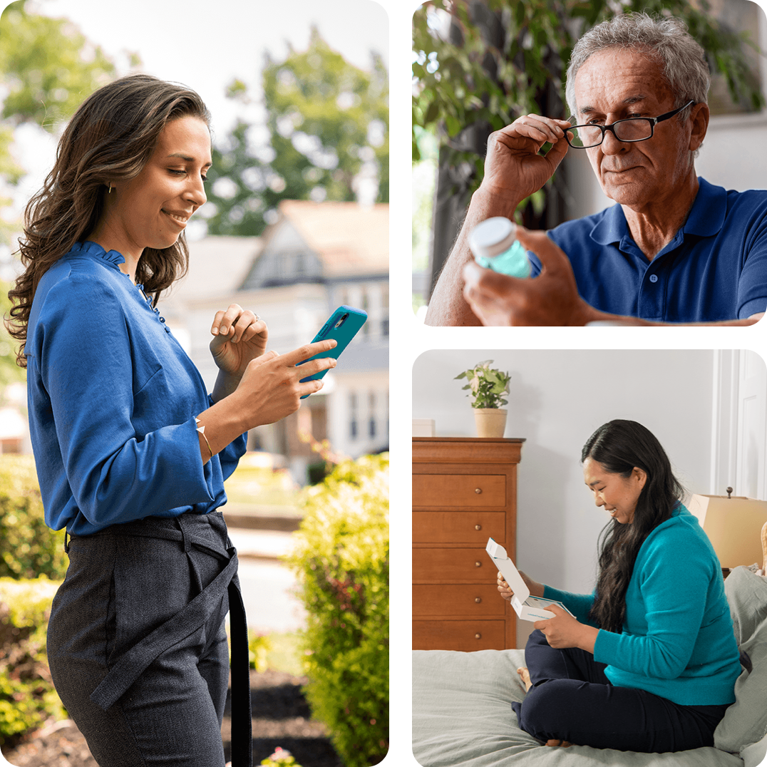
[[[63,580],[64,533],[45,524],[35,460],[0,455],[0,578]]]

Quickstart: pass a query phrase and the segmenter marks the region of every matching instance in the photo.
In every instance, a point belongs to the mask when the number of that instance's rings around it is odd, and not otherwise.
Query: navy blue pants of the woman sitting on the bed
[[[555,650],[541,631],[530,634],[525,662],[533,686],[512,703],[519,726],[534,738],[577,746],[663,753],[713,746],[727,706],[679,706],[630,687],[617,687],[585,650]]]

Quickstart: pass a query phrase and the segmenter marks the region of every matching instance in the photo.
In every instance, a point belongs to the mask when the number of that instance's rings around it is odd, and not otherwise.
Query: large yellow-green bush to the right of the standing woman
[[[389,454],[340,463],[304,490],[288,565],[308,612],[304,690],[346,767],[389,749]]]

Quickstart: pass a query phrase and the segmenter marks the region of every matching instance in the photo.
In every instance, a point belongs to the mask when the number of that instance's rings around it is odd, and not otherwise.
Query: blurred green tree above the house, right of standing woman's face
[[[262,83],[268,149],[250,145],[242,120],[213,147],[210,234],[259,235],[282,199],[354,200],[352,182],[365,162],[377,163],[377,202],[388,202],[389,86],[380,56],[373,54],[368,74],[312,27],[307,51],[291,50],[281,62],[267,55]],[[228,95],[251,103],[242,81],[233,81]]]

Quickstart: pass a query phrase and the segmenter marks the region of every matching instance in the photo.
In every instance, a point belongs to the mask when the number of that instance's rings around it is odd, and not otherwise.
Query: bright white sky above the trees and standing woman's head
[[[374,0],[30,0],[28,12],[68,18],[117,65],[117,75],[128,74],[127,51],[137,52],[142,71],[163,80],[181,82],[197,91],[213,115],[213,130],[225,136],[236,118],[263,120],[261,67],[265,51],[273,61],[308,48],[311,25],[344,58],[370,71],[370,51],[389,67],[389,17]],[[249,87],[257,102],[246,107],[226,99],[225,87],[235,77]],[[23,211],[40,188],[55,159],[57,137],[38,127],[16,131],[14,153],[29,171],[6,219]]]

